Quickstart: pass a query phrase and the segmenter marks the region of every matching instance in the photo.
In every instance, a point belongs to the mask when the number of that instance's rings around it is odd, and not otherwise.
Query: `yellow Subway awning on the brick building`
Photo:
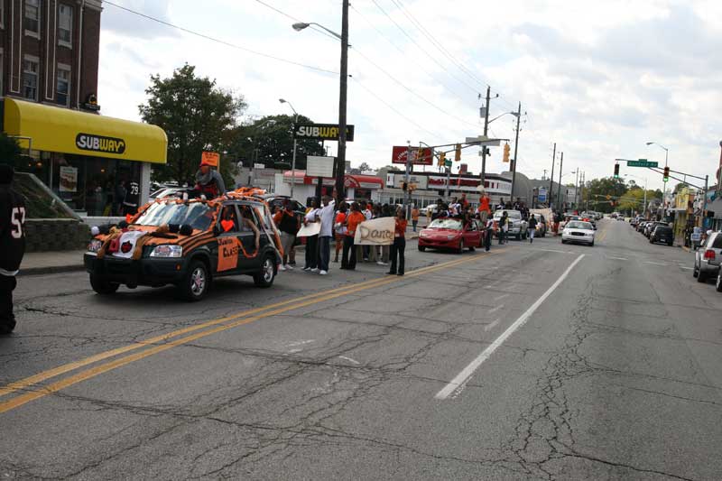
[[[5,98],[5,133],[32,150],[165,163],[168,137],[157,125]],[[24,144],[24,143],[23,143]]]

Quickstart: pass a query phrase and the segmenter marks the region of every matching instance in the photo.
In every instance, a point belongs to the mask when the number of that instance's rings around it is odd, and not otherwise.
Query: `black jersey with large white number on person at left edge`
[[[25,201],[9,185],[0,186],[0,275],[15,275],[25,254]]]

